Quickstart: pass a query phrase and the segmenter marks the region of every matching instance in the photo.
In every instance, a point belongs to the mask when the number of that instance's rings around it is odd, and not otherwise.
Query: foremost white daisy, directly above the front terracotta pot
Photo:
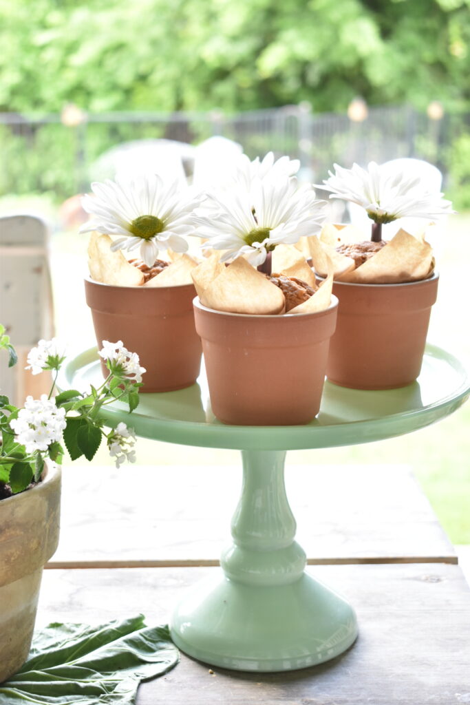
[[[311,186],[299,188],[297,179],[286,176],[261,180],[252,190],[237,183],[209,199],[217,217],[210,211],[198,217],[197,235],[207,238],[204,249],[225,250],[222,262],[247,255],[248,262],[260,266],[276,245],[317,233],[325,217],[324,202],[315,199]]]

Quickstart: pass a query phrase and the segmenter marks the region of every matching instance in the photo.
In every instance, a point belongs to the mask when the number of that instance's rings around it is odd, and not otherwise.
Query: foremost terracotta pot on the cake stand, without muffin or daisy
[[[214,415],[225,424],[307,424],[320,409],[338,300],[310,314],[255,316],[194,299]]]

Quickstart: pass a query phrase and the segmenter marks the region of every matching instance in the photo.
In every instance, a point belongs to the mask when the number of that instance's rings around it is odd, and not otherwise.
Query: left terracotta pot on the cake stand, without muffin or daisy
[[[142,392],[168,392],[194,384],[202,350],[194,328],[192,284],[110,286],[85,278],[85,294],[98,348],[102,341],[120,340],[139,355],[147,369]]]

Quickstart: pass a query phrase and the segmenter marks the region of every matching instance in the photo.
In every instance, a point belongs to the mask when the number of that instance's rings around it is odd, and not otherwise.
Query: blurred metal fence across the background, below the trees
[[[430,117],[409,106],[366,108],[350,116],[314,114],[308,104],[227,116],[109,113],[78,109],[41,118],[0,114],[0,195],[49,192],[57,200],[89,188],[107,150],[133,140],[166,139],[194,145],[211,135],[239,142],[250,157],[273,149],[299,158],[302,176],[318,181],[333,162],[381,163],[419,157],[436,164],[457,207],[470,207],[470,116]]]

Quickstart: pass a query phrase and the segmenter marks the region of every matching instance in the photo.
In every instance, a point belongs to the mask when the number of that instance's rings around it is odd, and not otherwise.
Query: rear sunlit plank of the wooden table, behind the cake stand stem
[[[61,542],[50,567],[216,565],[230,539],[240,467],[63,469]],[[403,465],[292,465],[287,496],[311,564],[457,563]]]

